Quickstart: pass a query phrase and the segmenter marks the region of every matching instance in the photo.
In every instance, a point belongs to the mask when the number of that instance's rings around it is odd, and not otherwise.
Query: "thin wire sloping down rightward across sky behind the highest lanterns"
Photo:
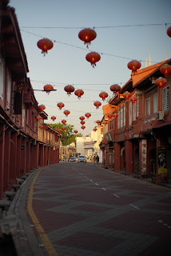
[[[169,24],[169,23],[168,23],[168,24]],[[34,33],[32,33],[32,32],[26,31],[26,30],[22,30],[22,29],[21,29],[21,31],[26,32],[26,33],[28,33],[28,34],[33,34],[34,36],[37,36],[37,37],[39,37],[39,38],[45,38],[45,37],[43,37],[42,35],[34,34]],[[63,45],[71,46],[71,47],[74,47],[74,48],[77,48],[77,49],[88,50],[88,51],[90,51],[90,52],[92,51],[92,50],[89,50],[89,49],[87,49],[87,48],[83,48],[83,47],[80,47],[80,46],[74,46],[74,45],[72,45],[72,44],[70,44],[70,43],[67,43],[67,42],[60,42],[60,41],[57,41],[57,40],[54,40],[54,39],[50,39],[50,40],[53,41],[54,43],[55,43],[55,42],[58,42],[58,43],[61,43],[61,44],[63,44]],[[101,54],[101,55],[106,55],[106,56],[115,57],[115,58],[124,58],[124,59],[127,59],[127,60],[133,60],[133,58],[123,57],[123,56],[119,56],[119,55],[116,55],[116,54],[106,54],[106,53],[101,53],[101,52],[98,52],[98,51],[96,51],[96,53],[97,53],[97,54]],[[139,61],[140,61],[140,60],[139,60]],[[141,62],[146,62],[146,60],[141,60]],[[152,62],[152,63],[157,64],[157,62]]]

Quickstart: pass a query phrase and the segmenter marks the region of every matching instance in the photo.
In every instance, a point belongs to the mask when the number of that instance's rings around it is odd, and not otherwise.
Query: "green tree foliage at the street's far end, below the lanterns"
[[[62,123],[49,123],[48,124],[53,129],[62,129],[62,126],[66,127],[66,130],[62,130],[62,138],[60,140],[62,141],[63,146],[70,145],[70,143],[75,142],[76,137],[82,137],[82,134],[74,134],[74,126],[73,125],[63,125]]]

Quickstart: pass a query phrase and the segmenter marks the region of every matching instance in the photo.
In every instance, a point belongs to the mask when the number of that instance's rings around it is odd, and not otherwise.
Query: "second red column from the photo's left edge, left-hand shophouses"
[[[0,150],[0,152],[2,152],[2,150]],[[7,130],[5,133],[4,166],[6,166],[6,168],[4,168],[3,174],[3,187],[6,188],[9,183],[10,174],[10,130]]]

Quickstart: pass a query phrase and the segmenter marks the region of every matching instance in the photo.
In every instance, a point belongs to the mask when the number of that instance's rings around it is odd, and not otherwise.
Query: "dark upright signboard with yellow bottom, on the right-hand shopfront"
[[[158,174],[167,173],[166,166],[166,148],[165,146],[158,147]]]

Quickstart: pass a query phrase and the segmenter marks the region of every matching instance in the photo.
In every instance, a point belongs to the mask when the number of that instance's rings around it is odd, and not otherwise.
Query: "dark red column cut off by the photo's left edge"
[[[4,147],[5,147],[5,125],[0,126],[0,198],[3,192],[3,172],[4,172]]]

